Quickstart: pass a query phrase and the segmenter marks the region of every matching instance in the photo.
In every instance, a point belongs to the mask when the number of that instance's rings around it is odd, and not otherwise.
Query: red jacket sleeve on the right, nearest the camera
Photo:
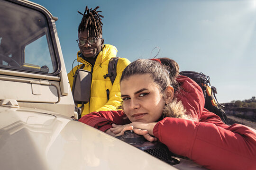
[[[212,170],[256,170],[256,130],[226,125],[204,110],[201,121],[165,118],[153,133],[169,150]]]

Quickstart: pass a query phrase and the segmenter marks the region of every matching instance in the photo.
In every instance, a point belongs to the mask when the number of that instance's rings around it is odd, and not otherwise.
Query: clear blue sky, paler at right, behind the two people
[[[56,21],[67,72],[84,8],[100,6],[105,44],[130,61],[168,57],[210,76],[220,103],[256,96],[256,0],[31,0]],[[158,51],[159,49],[159,51]],[[76,65],[77,62],[74,63]]]

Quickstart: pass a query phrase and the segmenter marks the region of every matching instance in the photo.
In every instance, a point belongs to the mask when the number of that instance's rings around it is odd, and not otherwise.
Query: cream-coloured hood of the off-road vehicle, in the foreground
[[[93,127],[56,115],[0,107],[1,169],[175,169]]]

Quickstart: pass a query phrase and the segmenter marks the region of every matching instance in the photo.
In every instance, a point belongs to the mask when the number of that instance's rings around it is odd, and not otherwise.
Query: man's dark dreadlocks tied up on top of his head
[[[102,15],[99,14],[99,12],[102,11],[96,11],[99,6],[94,8],[92,10],[86,6],[84,13],[82,14],[81,12],[77,11],[79,14],[81,14],[82,20],[81,23],[78,26],[78,32],[82,32],[85,29],[88,31],[88,37],[89,36],[96,36],[99,37],[102,34],[102,22],[101,22],[101,17]]]

